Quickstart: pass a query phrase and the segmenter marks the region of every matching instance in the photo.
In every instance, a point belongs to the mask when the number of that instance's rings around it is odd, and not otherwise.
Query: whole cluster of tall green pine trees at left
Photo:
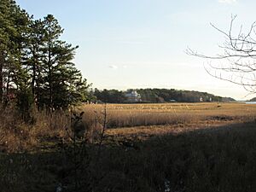
[[[0,102],[23,112],[86,101],[86,79],[75,67],[78,46],[61,40],[54,15],[35,20],[13,0],[0,1]]]

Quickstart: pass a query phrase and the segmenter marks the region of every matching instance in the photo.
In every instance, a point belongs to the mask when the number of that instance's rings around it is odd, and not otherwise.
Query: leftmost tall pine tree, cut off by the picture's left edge
[[[26,70],[22,67],[26,49],[26,31],[30,17],[12,0],[0,2],[0,102],[9,95],[9,87],[22,89]]]

